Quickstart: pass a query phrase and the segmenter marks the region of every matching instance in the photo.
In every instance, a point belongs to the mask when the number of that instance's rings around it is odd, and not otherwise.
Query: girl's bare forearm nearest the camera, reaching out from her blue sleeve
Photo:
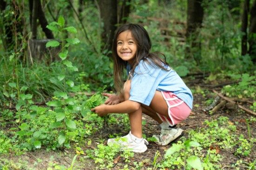
[[[136,101],[123,101],[116,105],[105,105],[102,104],[98,107],[91,109],[94,113],[99,116],[107,115],[108,113],[132,113],[141,107],[141,103]]]

